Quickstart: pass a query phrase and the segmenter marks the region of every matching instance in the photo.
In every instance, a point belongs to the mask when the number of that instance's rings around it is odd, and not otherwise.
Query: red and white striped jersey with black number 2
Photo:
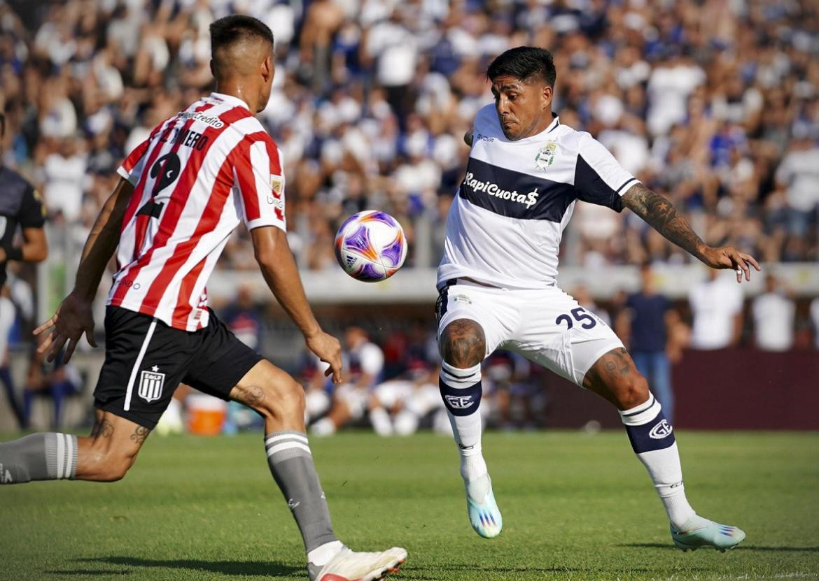
[[[278,147],[244,101],[211,93],[156,127],[117,171],[134,191],[108,304],[205,327],[206,283],[240,220],[286,228]]]

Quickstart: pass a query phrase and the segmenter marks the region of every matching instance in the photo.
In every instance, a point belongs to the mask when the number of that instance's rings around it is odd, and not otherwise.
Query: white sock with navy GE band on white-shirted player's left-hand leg
[[[480,363],[468,369],[459,369],[446,361],[441,363],[438,387],[458,444],[461,476],[468,483],[486,475],[486,462],[481,453]]]

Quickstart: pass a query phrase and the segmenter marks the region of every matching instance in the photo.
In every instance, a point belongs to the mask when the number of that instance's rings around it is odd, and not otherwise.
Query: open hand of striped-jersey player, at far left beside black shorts
[[[92,347],[97,346],[97,341],[94,340],[94,318],[90,300],[81,299],[73,293],[66,296],[66,299],[57,308],[57,313],[34,329],[34,335],[39,335],[52,327],[54,328],[43,341],[43,345],[37,349],[38,354],[48,351],[47,360],[49,362],[54,361],[67,341],[68,346],[62,361],[68,363],[83,333]]]

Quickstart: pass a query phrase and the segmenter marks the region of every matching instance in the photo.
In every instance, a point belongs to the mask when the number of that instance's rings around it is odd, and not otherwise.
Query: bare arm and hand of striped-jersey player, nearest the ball
[[[251,230],[256,262],[265,277],[270,291],[282,305],[287,315],[305,336],[307,348],[330,367],[325,375],[333,374],[333,381],[342,381],[342,346],[338,340],[325,333],[315,320],[307,302],[304,287],[296,268],[296,261],[287,243],[287,234],[278,227],[262,226]]]

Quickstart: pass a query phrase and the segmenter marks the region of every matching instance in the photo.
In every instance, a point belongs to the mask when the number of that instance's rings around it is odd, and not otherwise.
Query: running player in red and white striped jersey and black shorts
[[[251,231],[270,290],[307,347],[338,381],[341,349],[316,322],[287,245],[278,148],[254,117],[274,77],[273,34],[249,16],[210,26],[216,91],[165,120],[120,167],[83,250],[75,288],[41,353],[67,361],[85,334],[91,303],[116,254],[106,310],[106,361],[88,438],[33,434],[0,444],[0,483],[120,480],[179,382],[250,406],[265,418],[270,471],[291,508],[311,581],[382,579],[404,549],[352,552],[333,533],[305,435],[301,385],[233,336],[207,308],[206,282],[233,229]]]

